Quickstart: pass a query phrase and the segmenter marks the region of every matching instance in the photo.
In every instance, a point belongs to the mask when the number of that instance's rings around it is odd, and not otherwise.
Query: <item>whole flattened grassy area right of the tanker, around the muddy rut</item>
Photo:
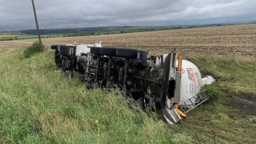
[[[256,107],[236,100],[256,102],[256,59],[252,57],[201,56],[187,57],[204,75],[217,82],[206,87],[210,100],[191,111],[184,126],[200,143],[256,143]]]

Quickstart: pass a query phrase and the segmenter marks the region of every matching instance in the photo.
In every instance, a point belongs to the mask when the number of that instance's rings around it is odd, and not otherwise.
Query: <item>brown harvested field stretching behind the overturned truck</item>
[[[36,39],[0,42],[0,48],[25,48]],[[50,48],[53,44],[72,42],[102,46],[129,47],[150,50],[151,53],[168,53],[174,48],[180,54],[221,54],[256,57],[256,24],[228,25],[208,28],[186,28],[168,31],[92,35],[42,39]]]

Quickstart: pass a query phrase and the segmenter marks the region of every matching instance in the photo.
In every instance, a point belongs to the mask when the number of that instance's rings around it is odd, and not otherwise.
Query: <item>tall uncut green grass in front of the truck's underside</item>
[[[64,79],[53,51],[26,59],[21,52],[0,50],[0,143],[192,142],[182,126],[131,109],[118,90]]]

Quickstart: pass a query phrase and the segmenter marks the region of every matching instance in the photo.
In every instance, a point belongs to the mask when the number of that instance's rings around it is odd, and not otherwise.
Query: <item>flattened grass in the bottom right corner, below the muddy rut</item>
[[[223,101],[223,99],[220,99]],[[243,116],[239,109],[227,103],[202,105],[184,120],[192,138],[198,143],[255,143],[255,124],[249,119],[256,116]]]

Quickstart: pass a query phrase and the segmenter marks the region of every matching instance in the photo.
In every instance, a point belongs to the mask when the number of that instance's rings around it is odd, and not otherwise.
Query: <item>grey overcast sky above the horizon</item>
[[[255,0],[35,0],[39,28],[256,21]],[[0,31],[35,29],[31,0],[0,0]]]

